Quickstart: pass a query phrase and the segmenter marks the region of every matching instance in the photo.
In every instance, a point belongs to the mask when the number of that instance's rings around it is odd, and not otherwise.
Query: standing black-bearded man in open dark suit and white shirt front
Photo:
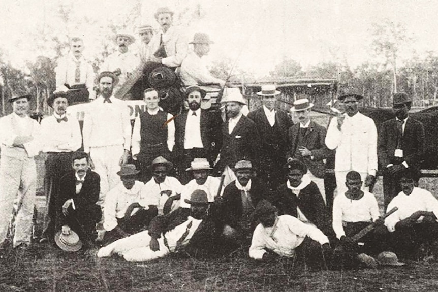
[[[199,86],[187,87],[185,92],[189,110],[175,118],[175,147],[173,161],[178,161],[178,175],[182,184],[191,180],[185,169],[194,158],[207,158],[213,166],[221,148],[221,124],[219,115],[201,109],[206,92]]]

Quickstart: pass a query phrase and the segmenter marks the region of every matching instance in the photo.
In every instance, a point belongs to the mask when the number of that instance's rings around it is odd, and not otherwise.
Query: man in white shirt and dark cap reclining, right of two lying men
[[[277,216],[276,208],[267,200],[257,204],[255,215],[260,224],[254,230],[249,257],[267,260],[275,253],[307,258],[309,263],[321,263],[324,254],[324,258],[328,259],[331,253],[329,240],[315,226],[290,215]]]

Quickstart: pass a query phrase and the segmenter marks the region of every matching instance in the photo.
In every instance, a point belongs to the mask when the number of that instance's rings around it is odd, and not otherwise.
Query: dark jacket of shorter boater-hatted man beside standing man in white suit
[[[300,159],[307,165],[310,172],[314,176],[318,178],[324,178],[326,167],[323,159],[329,157],[333,152],[332,150],[328,149],[325,144],[327,130],[314,121],[310,121],[307,132],[304,135],[304,140],[301,141],[302,145],[298,145],[299,131],[299,123],[289,128],[288,137],[290,140],[290,148],[288,151],[288,157]],[[310,157],[302,157],[300,152],[297,151],[300,146],[304,146],[312,151],[314,159],[312,160]]]

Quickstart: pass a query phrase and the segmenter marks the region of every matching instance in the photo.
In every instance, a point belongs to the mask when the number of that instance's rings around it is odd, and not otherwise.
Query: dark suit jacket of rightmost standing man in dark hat
[[[377,155],[382,169],[393,163],[394,152],[397,147],[397,121],[391,119],[382,124],[377,139]],[[408,166],[418,169],[424,155],[424,125],[408,118],[403,133],[403,158]]]

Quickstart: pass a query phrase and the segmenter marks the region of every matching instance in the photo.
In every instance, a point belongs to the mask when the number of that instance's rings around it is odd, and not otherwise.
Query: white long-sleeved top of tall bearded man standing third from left
[[[123,145],[128,151],[131,147],[129,108],[114,96],[110,100],[111,103],[104,103],[104,98],[99,96],[88,104],[82,129],[86,153],[90,147]]]

